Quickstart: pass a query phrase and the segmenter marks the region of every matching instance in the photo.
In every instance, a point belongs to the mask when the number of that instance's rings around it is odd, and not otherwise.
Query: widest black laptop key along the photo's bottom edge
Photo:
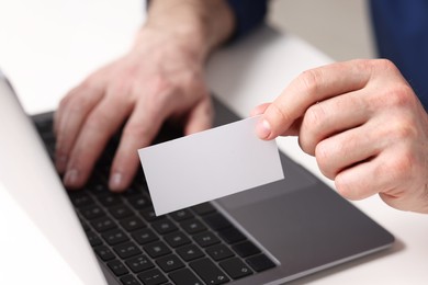
[[[217,285],[230,281],[226,274],[209,259],[193,261],[190,263],[190,266],[206,284]]]

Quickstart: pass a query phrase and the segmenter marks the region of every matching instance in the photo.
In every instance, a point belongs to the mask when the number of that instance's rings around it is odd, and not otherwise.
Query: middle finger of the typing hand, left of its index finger
[[[132,104],[121,96],[106,95],[89,114],[72,148],[64,178],[66,186],[76,189],[88,180],[106,142],[123,124]]]

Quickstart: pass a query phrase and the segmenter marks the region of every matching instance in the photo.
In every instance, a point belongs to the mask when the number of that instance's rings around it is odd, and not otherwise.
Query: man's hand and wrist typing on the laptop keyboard
[[[151,1],[133,49],[60,102],[54,128],[56,167],[65,173],[65,185],[76,189],[86,183],[106,142],[125,122],[111,168],[112,191],[131,183],[137,149],[148,146],[167,119],[180,123],[184,134],[209,128],[213,109],[203,68],[211,50],[232,31],[232,12],[223,0]]]

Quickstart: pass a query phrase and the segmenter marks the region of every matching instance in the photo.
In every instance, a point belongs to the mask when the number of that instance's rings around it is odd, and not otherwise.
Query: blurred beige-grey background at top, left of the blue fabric
[[[375,56],[368,0],[271,0],[269,8],[270,24],[335,60]]]

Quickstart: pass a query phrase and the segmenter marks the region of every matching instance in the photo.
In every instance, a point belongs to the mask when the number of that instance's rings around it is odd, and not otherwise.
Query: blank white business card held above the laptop
[[[139,149],[156,215],[283,179],[277,142],[256,135],[259,119]]]

